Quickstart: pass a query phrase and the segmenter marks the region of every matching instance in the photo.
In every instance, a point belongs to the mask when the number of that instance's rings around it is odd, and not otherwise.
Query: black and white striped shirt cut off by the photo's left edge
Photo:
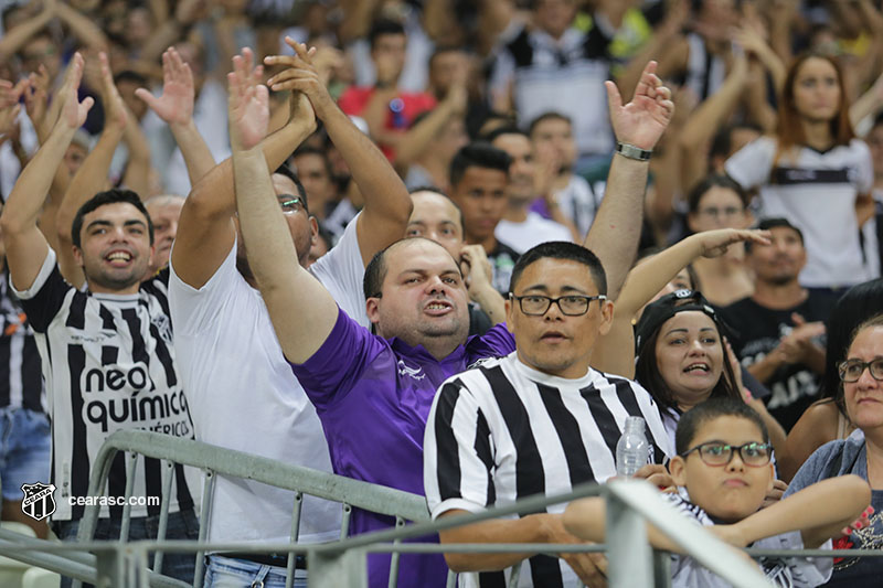
[[[0,408],[45,413],[45,402],[34,331],[0,271]]]

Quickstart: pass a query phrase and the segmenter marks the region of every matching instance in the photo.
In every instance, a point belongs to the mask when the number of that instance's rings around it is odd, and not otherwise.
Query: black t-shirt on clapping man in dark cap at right
[[[772,310],[752,298],[743,298],[722,309],[721,314],[734,330],[733,351],[747,367],[763,360],[794,330],[792,313],[797,312],[807,322],[825,322],[833,304],[831,297],[810,291],[802,303],[790,309]],[[823,338],[816,343],[825,348]],[[784,364],[764,384],[772,393],[766,399],[767,409],[786,431],[790,430],[804,410],[816,400],[819,392],[818,374],[804,364]]]

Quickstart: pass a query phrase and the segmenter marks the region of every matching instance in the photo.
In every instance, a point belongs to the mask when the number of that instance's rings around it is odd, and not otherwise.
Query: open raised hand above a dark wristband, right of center
[[[671,90],[656,75],[656,62],[649,62],[641,73],[635,96],[623,105],[619,89],[613,82],[605,82],[610,122],[618,141],[650,150],[669,126],[674,114]]]

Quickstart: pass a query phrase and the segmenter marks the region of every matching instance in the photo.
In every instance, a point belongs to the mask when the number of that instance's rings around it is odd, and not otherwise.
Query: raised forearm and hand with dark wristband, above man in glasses
[[[668,127],[674,111],[671,90],[653,73],[650,62],[641,74],[635,97],[623,106],[619,90],[605,82],[616,140],[650,151]],[[643,217],[643,193],[649,163],[615,154],[607,177],[606,195],[585,246],[604,264],[607,272],[607,296],[615,300],[638,252]]]

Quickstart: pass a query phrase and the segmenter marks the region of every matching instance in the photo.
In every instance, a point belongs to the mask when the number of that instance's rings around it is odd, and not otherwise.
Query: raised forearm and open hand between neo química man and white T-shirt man
[[[157,98],[146,88],[136,89],[135,95],[169,125],[184,156],[190,184],[196,185],[214,168],[215,161],[193,122],[193,74],[174,47],[162,54],[162,96]]]

